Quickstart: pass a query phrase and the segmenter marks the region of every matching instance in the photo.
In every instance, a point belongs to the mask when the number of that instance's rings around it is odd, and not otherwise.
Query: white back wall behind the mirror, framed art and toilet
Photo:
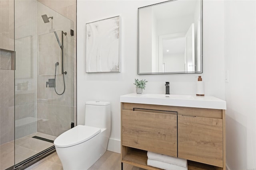
[[[119,96],[135,92],[134,78],[146,79],[144,93],[165,93],[170,82],[171,94],[195,94],[196,80],[205,81],[205,94],[224,99],[224,54],[222,2],[204,3],[204,60],[202,74],[137,74],[138,8],[160,1],[77,1],[77,123],[84,123],[84,104],[88,100],[111,102],[112,130],[110,138],[120,141]],[[223,5],[222,5],[223,6]],[[121,72],[85,73],[85,25],[88,22],[121,16]],[[111,145],[111,140],[110,140]],[[120,152],[120,145],[114,146]]]

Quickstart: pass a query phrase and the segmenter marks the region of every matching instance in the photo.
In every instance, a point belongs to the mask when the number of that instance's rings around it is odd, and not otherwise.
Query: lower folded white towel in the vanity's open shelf
[[[188,166],[183,167],[183,166],[168,164],[166,162],[160,162],[158,160],[152,160],[152,159],[148,159],[147,164],[148,166],[153,166],[153,167],[161,168],[164,170],[188,170]]]

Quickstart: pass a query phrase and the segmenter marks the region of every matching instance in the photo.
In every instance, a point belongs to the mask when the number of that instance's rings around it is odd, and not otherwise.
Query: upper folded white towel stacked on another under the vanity
[[[176,157],[159,154],[155,152],[150,152],[150,151],[148,151],[147,155],[148,155],[148,158],[152,160],[158,160],[160,162],[166,162],[169,164],[174,164],[174,165],[183,166],[183,167],[187,166],[186,159],[176,158]]]

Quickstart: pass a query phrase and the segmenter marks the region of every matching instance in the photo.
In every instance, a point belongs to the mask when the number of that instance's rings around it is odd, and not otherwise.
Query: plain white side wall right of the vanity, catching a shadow
[[[230,170],[256,168],[256,3],[225,1],[226,158]]]

